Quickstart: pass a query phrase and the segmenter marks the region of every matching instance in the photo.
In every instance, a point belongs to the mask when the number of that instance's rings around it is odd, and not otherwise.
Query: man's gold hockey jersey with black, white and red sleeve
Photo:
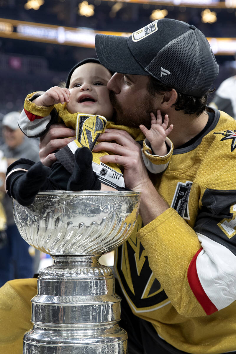
[[[152,175],[169,209],[139,219],[115,256],[132,312],[173,353],[236,351],[236,121],[209,112],[208,129]]]

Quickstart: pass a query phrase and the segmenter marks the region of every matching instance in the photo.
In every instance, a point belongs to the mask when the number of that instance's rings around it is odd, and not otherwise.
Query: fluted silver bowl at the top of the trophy
[[[13,200],[22,238],[50,255],[102,255],[131,234],[140,193],[46,191],[25,207]]]

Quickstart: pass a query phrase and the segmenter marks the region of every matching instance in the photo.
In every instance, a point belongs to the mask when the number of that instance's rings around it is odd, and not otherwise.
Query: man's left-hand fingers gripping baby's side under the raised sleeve
[[[75,139],[75,130],[66,127],[64,124],[53,124],[48,132],[40,138],[39,157],[42,164],[51,166],[57,161],[54,152],[64,148]]]

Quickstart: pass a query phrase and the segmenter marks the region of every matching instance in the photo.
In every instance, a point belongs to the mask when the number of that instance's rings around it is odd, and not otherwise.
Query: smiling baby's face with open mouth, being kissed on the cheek
[[[68,111],[103,115],[111,120],[113,107],[107,89],[110,78],[110,72],[101,64],[86,63],[76,68],[70,79]]]

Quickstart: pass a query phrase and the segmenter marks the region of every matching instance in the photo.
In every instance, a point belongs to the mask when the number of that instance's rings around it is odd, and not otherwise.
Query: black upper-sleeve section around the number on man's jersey
[[[232,212],[234,204],[236,204],[236,190],[206,189],[194,230],[227,247],[236,255],[236,231],[235,235],[234,233],[227,235],[222,227],[224,226],[222,223],[227,226],[227,219],[232,220],[233,224],[235,219],[236,228],[236,211]]]

